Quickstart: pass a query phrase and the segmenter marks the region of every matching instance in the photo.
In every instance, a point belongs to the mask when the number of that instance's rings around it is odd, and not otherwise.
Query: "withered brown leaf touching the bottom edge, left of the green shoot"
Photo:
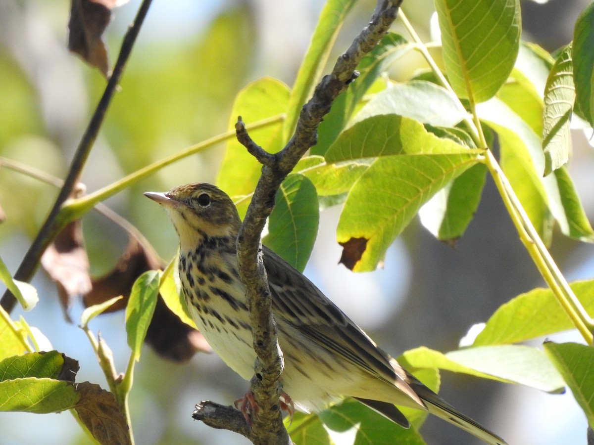
[[[101,444],[130,444],[128,424],[115,396],[98,384],[77,384],[81,398],[75,410],[81,422]]]

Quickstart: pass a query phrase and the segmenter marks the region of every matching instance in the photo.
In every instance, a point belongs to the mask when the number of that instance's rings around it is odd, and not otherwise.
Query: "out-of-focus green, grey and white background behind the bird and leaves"
[[[536,40],[549,51],[565,45],[587,3],[522,2],[525,40]],[[106,36],[112,63],[138,4],[131,0],[115,10]],[[248,82],[268,75],[291,85],[322,6],[321,0],[155,0],[84,171],[87,190],[226,131],[233,99]],[[334,53],[350,43],[374,7],[372,0],[356,5]],[[403,8],[416,30],[428,38],[432,1],[405,1]],[[67,52],[68,11],[65,0],[0,2],[0,156],[55,177],[64,176],[105,87],[99,71]],[[393,75],[405,71],[409,75],[420,63],[420,56],[407,56]],[[592,220],[590,135],[576,131],[573,136],[570,171]],[[141,193],[197,180],[214,182],[222,155],[222,147],[215,147],[185,158],[106,204],[136,225],[169,260],[176,250],[175,233],[165,212]],[[23,258],[56,194],[54,186],[0,169],[0,205],[5,213],[0,256],[11,271]],[[395,355],[419,345],[454,349],[473,323],[486,320],[514,295],[541,284],[523,247],[509,236],[513,228],[490,182],[475,220],[456,249],[437,243],[412,224],[388,251],[386,269],[369,274],[355,275],[336,265],[340,256],[335,241],[337,214],[329,209],[321,215],[306,274]],[[83,218],[83,227],[91,272],[103,274],[121,255],[127,236],[95,212]],[[591,277],[591,249],[576,246],[556,237],[552,249],[568,279]],[[40,303],[24,316],[48,336],[54,348],[80,361],[79,381],[103,385],[83,332],[64,321],[52,283],[39,272],[33,284],[39,289]],[[366,304],[361,304],[363,293]],[[73,319],[80,310],[81,305],[73,310]],[[21,314],[15,311],[13,317]],[[91,329],[99,330],[108,341],[121,369],[127,358],[123,317],[115,313],[91,323]],[[584,437],[586,422],[579,411],[571,411],[575,409],[571,398],[447,373],[443,379],[445,399],[479,421],[488,419],[486,423],[510,443],[577,443],[568,439],[568,431]],[[213,355],[198,354],[190,363],[179,365],[147,349],[131,395],[137,443],[245,443],[233,433],[210,430],[190,417],[201,399],[230,402],[245,387]],[[443,426],[428,420],[423,430],[428,443],[472,443],[464,433]],[[0,431],[2,444],[38,443],[42,434],[46,444],[86,443],[68,414],[3,413]]]

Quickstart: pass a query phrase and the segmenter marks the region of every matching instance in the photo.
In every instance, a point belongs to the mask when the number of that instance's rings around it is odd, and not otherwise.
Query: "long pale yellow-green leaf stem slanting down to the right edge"
[[[413,42],[416,43],[417,49],[424,56],[425,61],[431,67],[438,81],[444,88],[446,88],[448,91],[451,91],[451,93],[454,93],[450,83],[447,81],[437,66],[437,63],[435,63],[429,54],[425,44],[419,38],[418,34],[416,34],[414,28],[410,25],[406,15],[400,11],[398,17],[404,24],[406,30],[409,32]],[[481,122],[479,120],[478,113],[476,113],[475,103],[474,100],[472,100],[472,94],[469,94],[469,97],[472,119],[470,119],[470,117],[466,117],[464,119],[465,125],[467,128],[469,128],[472,138],[479,145],[479,147],[487,147]],[[511,187],[511,184],[507,180],[507,177],[505,177],[503,170],[501,170],[501,166],[498,164],[495,156],[489,149],[486,150],[484,162],[489,170],[489,173],[491,173],[491,176],[494,179],[495,185],[497,186],[497,190],[501,195],[501,199],[503,200],[505,208],[510,215],[511,221],[516,227],[519,238],[526,247],[530,258],[532,258],[536,268],[538,268],[538,271],[545,279],[546,284],[549,286],[549,288],[551,288],[552,293],[555,295],[555,297],[557,297],[561,307],[563,307],[568,317],[570,317],[571,322],[582,334],[587,344],[592,345],[592,333],[594,332],[594,322],[592,318],[584,309],[582,303],[580,303],[580,301],[577,299],[573,290],[571,290],[571,287],[563,274],[561,274],[557,264],[552,259],[551,254],[546,249],[545,244],[542,242],[541,237],[534,228],[532,221],[530,221],[530,218],[526,214],[526,211],[520,203],[520,200],[517,198],[516,192],[513,190],[513,187]]]

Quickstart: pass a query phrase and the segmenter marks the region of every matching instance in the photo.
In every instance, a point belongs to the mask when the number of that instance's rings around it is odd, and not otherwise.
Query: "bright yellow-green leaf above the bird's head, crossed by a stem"
[[[250,123],[284,113],[288,99],[289,88],[283,82],[269,77],[251,82],[235,98],[229,128],[235,128],[238,116]],[[281,128],[279,122],[251,131],[249,135],[264,150],[276,153],[283,147]],[[227,144],[216,182],[230,196],[247,195],[254,191],[261,169],[262,165],[233,138]]]

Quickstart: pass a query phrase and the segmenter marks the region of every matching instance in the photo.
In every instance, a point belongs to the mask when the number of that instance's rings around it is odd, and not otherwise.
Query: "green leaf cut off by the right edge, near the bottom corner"
[[[545,351],[594,428],[594,349],[577,343],[545,342]]]

